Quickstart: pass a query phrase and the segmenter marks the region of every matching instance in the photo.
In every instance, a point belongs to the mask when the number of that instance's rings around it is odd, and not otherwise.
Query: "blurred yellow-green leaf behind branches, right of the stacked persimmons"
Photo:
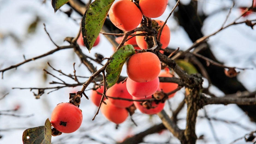
[[[187,61],[182,60],[182,59],[176,60],[175,62],[177,63],[178,66],[180,66],[181,69],[183,69],[189,75],[191,75],[193,73],[198,73],[195,66],[190,62],[187,62]]]

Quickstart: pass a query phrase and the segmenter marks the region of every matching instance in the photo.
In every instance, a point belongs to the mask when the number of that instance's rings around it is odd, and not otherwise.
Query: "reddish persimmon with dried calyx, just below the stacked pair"
[[[136,98],[136,97],[133,97],[132,99],[133,100],[146,100],[146,99],[151,99],[152,97],[147,97],[147,98]],[[139,111],[141,111],[143,114],[148,114],[148,115],[153,115],[153,114],[157,114],[159,113],[160,111],[163,110],[163,107],[165,106],[165,103],[158,103],[156,104],[155,102],[152,102],[152,107],[155,107],[155,108],[150,108],[150,109],[147,109],[145,108],[144,106],[141,105],[142,102],[136,102],[136,101],[133,101],[135,107],[137,109],[139,109]]]

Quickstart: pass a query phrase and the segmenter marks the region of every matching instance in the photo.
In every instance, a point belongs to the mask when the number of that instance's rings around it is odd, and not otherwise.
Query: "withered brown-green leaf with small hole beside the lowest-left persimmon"
[[[23,132],[23,144],[48,144],[51,143],[52,129],[49,118],[45,121],[44,126],[28,128]]]

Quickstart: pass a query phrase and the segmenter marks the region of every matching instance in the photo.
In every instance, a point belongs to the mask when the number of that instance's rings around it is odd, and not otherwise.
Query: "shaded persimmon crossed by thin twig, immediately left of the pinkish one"
[[[124,82],[123,84],[120,82],[118,84],[113,85],[111,88],[107,90],[106,95],[110,97],[132,99],[132,95],[130,95],[129,92],[127,91],[126,82]],[[109,98],[109,102],[111,102],[113,105],[119,108],[127,108],[133,104],[132,101],[118,100],[112,98]]]

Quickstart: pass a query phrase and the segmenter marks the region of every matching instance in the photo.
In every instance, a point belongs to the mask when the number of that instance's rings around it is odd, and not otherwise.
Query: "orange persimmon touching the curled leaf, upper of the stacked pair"
[[[133,54],[127,62],[127,75],[135,82],[153,81],[160,71],[160,60],[151,52]]]

